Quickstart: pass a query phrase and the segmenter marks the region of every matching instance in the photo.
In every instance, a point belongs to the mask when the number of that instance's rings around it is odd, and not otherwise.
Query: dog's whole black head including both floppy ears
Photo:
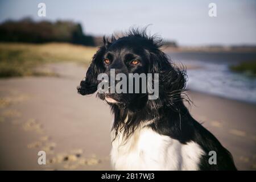
[[[102,83],[102,79],[99,79],[98,76],[105,73],[109,79],[109,92],[98,93],[98,97],[106,100],[108,104],[127,107],[131,110],[138,110],[147,106],[151,113],[154,113],[152,112],[153,109],[157,110],[163,105],[172,106],[175,109],[174,106],[177,101],[180,101],[180,93],[185,86],[185,73],[175,68],[160,50],[161,39],[146,35],[146,30],[133,29],[121,38],[112,36],[111,39],[104,38],[103,42],[104,46],[100,47],[93,56],[85,80],[81,81],[80,86],[77,87],[80,94],[86,95],[96,92],[98,84]],[[119,73],[121,73],[122,78],[117,76]],[[159,87],[159,93],[155,99],[148,99],[150,96],[148,89],[143,92],[145,90],[143,81],[145,80],[142,78],[139,79],[138,88],[135,88],[135,84],[130,84],[130,75],[135,73],[144,74],[144,76],[151,73],[151,81],[156,83],[152,87]],[[158,80],[155,78],[155,73],[158,74]],[[121,89],[125,87],[127,92],[111,92],[113,85],[111,86],[110,79],[113,76],[114,86],[127,78],[121,86]],[[135,78],[133,77],[133,79]],[[146,77],[146,86],[149,88],[148,77]],[[136,89],[137,92],[135,92]],[[129,90],[133,92],[129,92]]]

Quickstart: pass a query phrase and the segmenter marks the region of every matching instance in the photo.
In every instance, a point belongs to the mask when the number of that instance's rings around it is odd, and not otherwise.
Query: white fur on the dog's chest
[[[112,143],[111,160],[115,170],[197,170],[202,155],[204,151],[195,142],[182,144],[142,127],[125,142],[122,132],[118,133]]]

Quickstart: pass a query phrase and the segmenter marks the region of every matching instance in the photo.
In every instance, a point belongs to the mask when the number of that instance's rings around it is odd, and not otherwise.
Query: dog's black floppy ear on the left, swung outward
[[[82,96],[93,94],[97,90],[98,86],[98,74],[103,73],[105,68],[102,65],[102,57],[106,51],[106,46],[100,47],[96,54],[93,56],[92,63],[86,72],[85,80],[80,82],[77,86],[77,92]]]

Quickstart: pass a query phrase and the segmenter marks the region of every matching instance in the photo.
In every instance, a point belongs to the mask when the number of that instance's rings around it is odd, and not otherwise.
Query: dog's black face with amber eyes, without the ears
[[[110,105],[117,104],[121,106],[129,106],[131,102],[136,104],[139,100],[146,100],[147,94],[142,93],[142,83],[140,80],[139,84],[139,93],[128,92],[129,87],[129,73],[134,74],[141,73],[147,74],[149,72],[150,65],[150,53],[146,49],[146,45],[142,46],[142,40],[137,37],[126,37],[115,40],[112,44],[106,48],[104,54],[102,55],[102,67],[104,67],[105,73],[109,76],[109,78],[113,77],[110,71],[114,70],[114,77],[116,77],[119,73],[123,73],[126,78],[126,86],[127,90],[124,93],[100,93],[98,96],[102,100],[106,100]],[[114,79],[114,78],[113,78]],[[119,81],[115,80],[115,85]],[[110,83],[110,80],[109,80]],[[135,85],[133,85],[134,87]],[[133,91],[135,88],[132,89]]]

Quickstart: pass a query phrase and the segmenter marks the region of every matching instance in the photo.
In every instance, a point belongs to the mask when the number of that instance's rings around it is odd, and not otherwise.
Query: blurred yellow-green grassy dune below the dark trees
[[[0,43],[0,77],[54,75],[35,68],[60,61],[89,64],[95,52],[94,47],[68,43]]]

